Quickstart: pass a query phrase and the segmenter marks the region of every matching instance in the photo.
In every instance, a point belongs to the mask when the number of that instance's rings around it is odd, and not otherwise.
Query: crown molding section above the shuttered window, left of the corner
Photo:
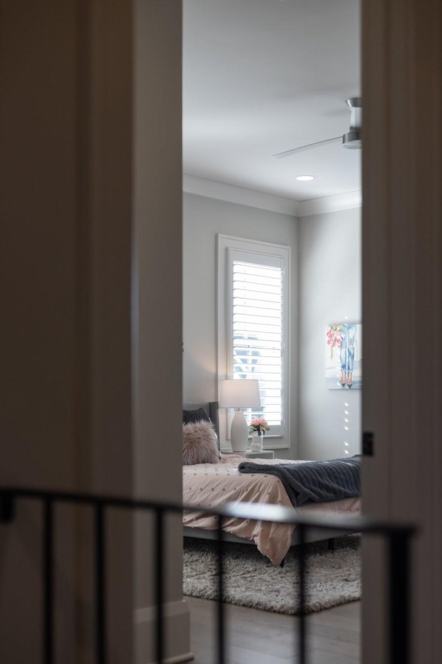
[[[253,192],[250,189],[225,185],[222,182],[215,182],[214,180],[196,178],[193,175],[183,174],[183,191],[188,194],[198,194],[198,196],[207,196],[220,201],[229,201],[229,203],[249,205],[251,208],[261,208],[262,210],[270,210],[271,212],[280,212],[280,214],[298,216],[298,201],[285,199],[282,196],[273,196],[273,194]]]

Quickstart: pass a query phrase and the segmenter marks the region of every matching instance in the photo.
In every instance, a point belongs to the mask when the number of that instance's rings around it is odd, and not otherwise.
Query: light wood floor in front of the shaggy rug
[[[195,664],[217,664],[216,603],[188,597]],[[227,605],[226,664],[298,663],[298,618]],[[360,664],[361,602],[307,616],[305,664]]]

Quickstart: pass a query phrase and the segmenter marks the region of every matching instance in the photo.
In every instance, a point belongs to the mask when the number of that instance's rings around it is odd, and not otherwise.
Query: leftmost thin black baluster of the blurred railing
[[[43,664],[52,664],[53,659],[53,607],[54,607],[54,583],[53,583],[53,510],[52,499],[46,497],[43,503],[43,616],[44,616],[44,639],[43,639]]]

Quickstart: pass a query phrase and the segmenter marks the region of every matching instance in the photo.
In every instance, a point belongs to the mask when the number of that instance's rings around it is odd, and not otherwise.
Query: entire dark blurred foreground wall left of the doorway
[[[182,497],[181,5],[1,3],[1,486]],[[0,524],[0,661],[40,664],[41,509],[16,507]],[[91,517],[55,508],[64,664],[95,661]],[[106,513],[109,664],[155,661],[155,538],[142,547],[138,524]],[[179,519],[166,535],[177,663],[191,657]]]

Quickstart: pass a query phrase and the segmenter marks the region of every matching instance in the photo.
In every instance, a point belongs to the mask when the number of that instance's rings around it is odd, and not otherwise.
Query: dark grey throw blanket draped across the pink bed
[[[329,461],[303,461],[275,465],[242,461],[240,472],[276,475],[282,481],[291,504],[323,503],[358,496],[361,492],[361,454]]]

